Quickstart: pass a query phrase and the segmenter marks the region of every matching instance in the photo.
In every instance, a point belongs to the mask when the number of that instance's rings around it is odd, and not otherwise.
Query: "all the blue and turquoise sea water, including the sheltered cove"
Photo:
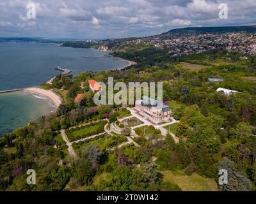
[[[88,59],[106,52],[92,49],[59,47],[52,43],[0,43],[0,91],[31,87],[54,77],[62,68],[103,71],[120,68],[127,62],[112,58]],[[31,92],[0,94],[0,136],[54,111],[49,99]]]

